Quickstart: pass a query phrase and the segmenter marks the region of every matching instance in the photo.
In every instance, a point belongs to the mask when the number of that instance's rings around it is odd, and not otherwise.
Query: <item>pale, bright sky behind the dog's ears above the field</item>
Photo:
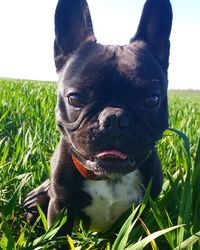
[[[88,0],[98,42],[127,44],[145,0]],[[0,77],[56,80],[53,15],[57,0],[0,1]],[[200,0],[171,0],[169,88],[200,89]]]

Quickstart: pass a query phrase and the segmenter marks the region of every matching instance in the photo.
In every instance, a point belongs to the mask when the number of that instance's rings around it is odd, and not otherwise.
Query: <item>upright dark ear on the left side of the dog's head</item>
[[[54,60],[57,71],[81,43],[96,41],[85,0],[59,0],[55,12]]]

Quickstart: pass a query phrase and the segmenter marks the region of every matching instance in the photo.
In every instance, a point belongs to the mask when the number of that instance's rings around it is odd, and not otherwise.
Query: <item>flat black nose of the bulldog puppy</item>
[[[107,107],[99,115],[100,128],[112,131],[127,129],[130,126],[129,115],[122,108]]]

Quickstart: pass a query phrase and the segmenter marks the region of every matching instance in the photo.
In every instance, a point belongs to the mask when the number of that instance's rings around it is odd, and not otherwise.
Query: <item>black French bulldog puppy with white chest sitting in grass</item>
[[[147,0],[129,45],[96,42],[85,0],[59,0],[55,12],[57,125],[61,141],[51,177],[25,200],[26,218],[46,209],[48,224],[63,208],[70,234],[76,215],[96,231],[108,229],[131,204],[162,187],[155,149],[168,128],[167,69],[172,9]]]

